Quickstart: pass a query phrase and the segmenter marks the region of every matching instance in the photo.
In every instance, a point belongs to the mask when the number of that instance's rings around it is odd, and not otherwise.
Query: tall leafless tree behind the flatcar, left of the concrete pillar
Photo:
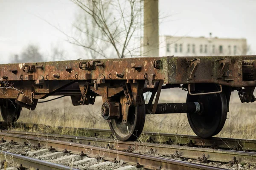
[[[72,1],[81,12],[68,41],[84,48],[87,57],[133,57],[139,50],[134,34],[142,27],[140,0]]]

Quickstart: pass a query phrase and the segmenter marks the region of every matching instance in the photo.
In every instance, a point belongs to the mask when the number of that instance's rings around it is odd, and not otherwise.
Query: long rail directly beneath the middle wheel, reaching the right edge
[[[68,135],[54,135],[54,134],[41,134],[32,132],[20,132],[20,131],[4,131],[5,133],[12,133],[23,135],[24,137],[33,136],[41,139],[58,139],[67,142],[76,142],[83,144],[90,144],[92,146],[100,146],[105,148],[111,148],[115,150],[128,150],[128,151],[140,151],[145,153],[151,153],[152,151],[161,155],[173,155],[179,154],[183,158],[197,159],[203,154],[207,157],[208,161],[221,161],[229,162],[235,156],[239,162],[256,162],[256,153],[241,152],[233,150],[216,150],[209,148],[188,147],[168,144],[156,144],[148,142],[122,142],[114,139],[100,139],[96,137],[80,137],[80,136],[68,136]],[[154,151],[156,150],[156,151]]]

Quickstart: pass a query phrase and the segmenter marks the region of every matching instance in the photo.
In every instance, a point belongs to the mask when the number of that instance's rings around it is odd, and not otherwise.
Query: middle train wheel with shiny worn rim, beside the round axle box
[[[135,141],[140,136],[145,123],[145,101],[137,107],[130,107],[127,123],[122,123],[122,117],[109,122],[109,127],[117,139],[121,141]]]

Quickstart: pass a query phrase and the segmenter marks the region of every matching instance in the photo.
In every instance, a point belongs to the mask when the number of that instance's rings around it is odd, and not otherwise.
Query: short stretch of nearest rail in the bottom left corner
[[[67,167],[60,164],[51,163],[48,161],[42,161],[39,159],[30,158],[14,153],[0,151],[0,159],[7,162],[14,162],[15,164],[22,164],[23,167],[32,168],[34,170],[77,170],[71,167]]]

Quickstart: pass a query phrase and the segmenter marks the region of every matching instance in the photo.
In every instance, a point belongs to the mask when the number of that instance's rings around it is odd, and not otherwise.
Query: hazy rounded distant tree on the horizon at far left
[[[27,48],[20,54],[15,54],[11,61],[12,63],[17,62],[43,62],[45,61],[42,54],[39,52],[39,48],[36,45],[28,45]]]

